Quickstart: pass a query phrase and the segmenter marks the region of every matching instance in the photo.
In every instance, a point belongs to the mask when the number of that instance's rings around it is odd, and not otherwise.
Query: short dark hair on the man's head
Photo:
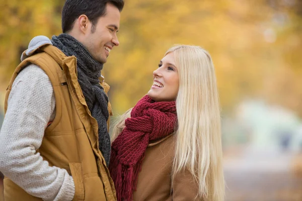
[[[73,27],[74,21],[81,15],[86,15],[95,31],[95,25],[100,17],[106,14],[106,5],[114,5],[120,12],[124,8],[123,0],[66,0],[62,10],[62,31],[66,33]]]

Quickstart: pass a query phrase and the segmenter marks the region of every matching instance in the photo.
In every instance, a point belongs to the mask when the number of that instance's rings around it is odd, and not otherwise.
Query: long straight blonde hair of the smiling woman
[[[170,52],[174,52],[179,74],[172,179],[188,169],[198,185],[196,198],[224,200],[220,107],[212,59],[198,46],[177,45],[165,55]],[[122,131],[130,112],[115,126],[113,139]]]

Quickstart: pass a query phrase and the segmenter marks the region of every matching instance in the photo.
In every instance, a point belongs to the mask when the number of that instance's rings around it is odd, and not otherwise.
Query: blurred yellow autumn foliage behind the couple
[[[0,0],[0,80],[8,80],[36,35],[58,35],[64,1]],[[299,0],[127,0],[103,74],[115,113],[132,107],[173,44],[199,45],[214,61],[221,105],[262,97],[302,116]]]

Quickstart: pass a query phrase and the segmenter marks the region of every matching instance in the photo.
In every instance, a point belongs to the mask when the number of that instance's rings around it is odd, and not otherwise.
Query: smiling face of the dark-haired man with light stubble
[[[106,14],[99,18],[95,27],[90,27],[90,30],[84,36],[84,40],[81,41],[98,62],[106,63],[112,48],[119,45],[116,36],[119,23],[119,10],[112,4],[107,4]]]

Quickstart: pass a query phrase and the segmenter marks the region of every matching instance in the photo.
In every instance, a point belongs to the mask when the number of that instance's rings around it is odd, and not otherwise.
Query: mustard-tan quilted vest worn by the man
[[[98,149],[98,124],[91,116],[77,78],[77,59],[67,57],[52,45],[33,50],[15,70],[5,100],[5,112],[13,82],[29,63],[36,64],[48,75],[54,90],[56,115],[46,128],[41,147],[37,150],[50,166],[64,168],[75,184],[73,200],[116,200],[113,181],[106,162]],[[105,92],[109,90],[100,80]],[[111,105],[108,104],[110,115]],[[109,128],[109,120],[108,120]],[[42,200],[25,192],[9,178],[4,181],[6,201]]]

